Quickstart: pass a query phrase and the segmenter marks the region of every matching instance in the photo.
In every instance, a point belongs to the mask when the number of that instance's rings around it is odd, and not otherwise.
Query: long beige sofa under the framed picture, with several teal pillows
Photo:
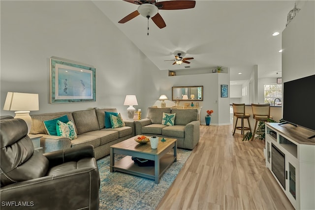
[[[109,147],[118,142],[135,136],[133,120],[124,120],[126,126],[118,128],[105,128],[105,112],[115,112],[117,109],[93,109],[74,112],[58,112],[32,115],[32,128],[30,134],[40,134],[40,146],[44,152],[63,150],[83,145],[93,145],[95,158],[99,159],[109,154]],[[70,140],[62,136],[48,135],[45,129],[45,120],[56,119],[66,115],[72,120],[77,138]]]

